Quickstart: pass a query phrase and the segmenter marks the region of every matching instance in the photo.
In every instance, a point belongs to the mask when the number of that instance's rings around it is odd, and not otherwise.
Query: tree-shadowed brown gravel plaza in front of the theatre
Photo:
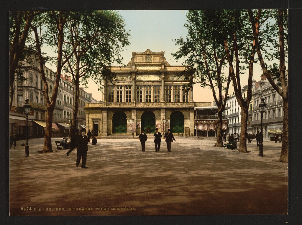
[[[44,139],[10,149],[10,215],[287,214],[288,164],[281,143],[255,140],[248,153],[214,147],[215,140],[175,137],[171,152],[151,137],[98,139],[88,145],[87,169],[76,150],[39,153]],[[88,143],[89,144],[89,143]]]

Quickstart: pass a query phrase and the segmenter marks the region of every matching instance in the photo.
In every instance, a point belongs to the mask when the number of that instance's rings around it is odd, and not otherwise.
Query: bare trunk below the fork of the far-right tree
[[[288,162],[288,99],[283,99],[283,134],[279,162]]]

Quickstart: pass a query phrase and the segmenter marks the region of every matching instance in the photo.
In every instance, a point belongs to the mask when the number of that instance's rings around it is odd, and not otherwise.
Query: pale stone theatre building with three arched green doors
[[[102,103],[86,103],[86,128],[95,136],[140,134],[156,128],[165,133],[194,135],[193,91],[186,91],[188,81],[177,75],[185,66],[170,66],[164,52],[132,52],[127,66],[113,66],[113,83],[104,81]]]

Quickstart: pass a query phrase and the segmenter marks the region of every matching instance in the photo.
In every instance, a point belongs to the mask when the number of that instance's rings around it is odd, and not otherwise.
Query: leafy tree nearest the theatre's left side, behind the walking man
[[[110,66],[114,61],[122,63],[120,52],[122,47],[129,45],[130,35],[125,30],[123,18],[114,11],[77,11],[71,12],[69,18],[65,26],[63,58],[67,61],[64,71],[72,75],[75,84],[71,122],[73,138],[78,127],[80,82],[87,87],[88,79],[98,85],[103,79],[112,81],[114,73]]]

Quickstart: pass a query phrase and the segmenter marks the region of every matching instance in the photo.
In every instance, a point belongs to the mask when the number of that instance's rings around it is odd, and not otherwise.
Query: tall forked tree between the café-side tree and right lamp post
[[[253,78],[253,65],[255,58],[255,43],[253,41],[253,34],[250,30],[249,16],[247,11],[238,10],[235,13],[229,14],[229,18],[233,19],[237,25],[235,29],[230,30],[232,42],[227,39],[224,41],[224,48],[226,51],[226,58],[229,63],[229,68],[233,80],[234,92],[238,104],[241,107],[241,131],[240,131],[240,144],[239,152],[247,153],[246,149],[246,130],[248,122],[249,104],[252,98],[252,78]],[[257,22],[259,27],[259,21]],[[229,47],[230,46],[230,47]],[[232,55],[230,50],[235,53]],[[235,58],[235,62],[234,59]],[[234,65],[235,64],[235,65]],[[243,70],[248,69],[248,84],[247,96],[243,97],[240,76],[245,74]]]

